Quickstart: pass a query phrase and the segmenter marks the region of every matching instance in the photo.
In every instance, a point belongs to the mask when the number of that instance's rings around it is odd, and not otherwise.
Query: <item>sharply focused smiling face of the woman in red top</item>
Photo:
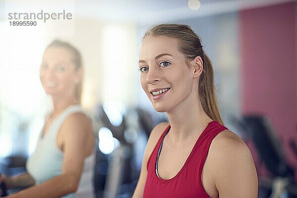
[[[158,112],[170,112],[192,93],[194,69],[178,50],[175,38],[146,37],[140,50],[139,68],[142,88]]]

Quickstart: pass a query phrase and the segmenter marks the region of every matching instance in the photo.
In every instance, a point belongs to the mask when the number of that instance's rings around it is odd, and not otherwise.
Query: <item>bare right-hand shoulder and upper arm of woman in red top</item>
[[[257,198],[254,161],[240,137],[229,130],[220,132],[213,139],[207,158],[220,198]]]

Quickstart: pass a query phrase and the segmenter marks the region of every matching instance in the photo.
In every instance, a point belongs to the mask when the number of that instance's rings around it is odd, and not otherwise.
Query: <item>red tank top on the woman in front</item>
[[[202,168],[211,141],[227,128],[216,121],[208,123],[181,170],[173,178],[164,180],[156,175],[156,163],[160,146],[169,129],[170,125],[161,135],[148,159],[144,198],[209,198],[201,182]]]

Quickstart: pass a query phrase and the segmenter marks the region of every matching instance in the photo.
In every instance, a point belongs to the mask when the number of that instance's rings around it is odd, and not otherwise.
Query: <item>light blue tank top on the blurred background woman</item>
[[[79,105],[69,106],[52,121],[44,137],[42,137],[41,133],[35,151],[28,158],[26,164],[27,171],[35,179],[36,184],[43,183],[62,173],[64,153],[57,147],[56,137],[67,116],[76,112],[84,113]],[[94,165],[95,149],[90,156],[85,158],[84,170],[77,192],[75,194],[68,194],[62,198],[95,197],[93,186]]]

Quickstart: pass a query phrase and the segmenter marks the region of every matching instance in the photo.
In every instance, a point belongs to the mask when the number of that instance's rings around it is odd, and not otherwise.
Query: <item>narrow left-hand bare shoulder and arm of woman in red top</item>
[[[167,122],[161,122],[161,123],[157,124],[152,129],[152,131],[149,135],[146,151],[145,151],[143,162],[142,162],[139,180],[138,180],[137,186],[135,188],[133,198],[142,198],[144,195],[144,189],[145,189],[145,184],[146,184],[147,175],[148,175],[148,170],[147,170],[148,158],[149,158],[152,150],[155,148],[160,136],[162,135],[164,130],[168,127],[168,125],[169,125],[169,123],[167,123]]]

